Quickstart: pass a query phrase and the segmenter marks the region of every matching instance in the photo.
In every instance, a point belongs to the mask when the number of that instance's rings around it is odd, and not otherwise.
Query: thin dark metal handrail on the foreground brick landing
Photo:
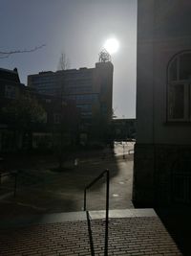
[[[106,176],[106,207],[105,207],[105,247],[104,247],[104,255],[108,255],[108,226],[109,226],[109,181],[110,181],[110,172],[109,170],[105,170],[100,175],[98,175],[84,190],[84,211],[88,213],[86,210],[86,194],[87,190],[90,189],[96,181],[98,181],[103,176]],[[88,216],[88,214],[87,214]]]

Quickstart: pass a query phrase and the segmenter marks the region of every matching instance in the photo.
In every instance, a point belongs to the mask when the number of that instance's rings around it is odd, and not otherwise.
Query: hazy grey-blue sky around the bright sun
[[[26,85],[28,75],[56,71],[61,53],[71,68],[95,67],[104,42],[116,37],[113,108],[117,118],[136,117],[137,0],[0,0],[0,23],[0,51],[46,45],[0,58]]]

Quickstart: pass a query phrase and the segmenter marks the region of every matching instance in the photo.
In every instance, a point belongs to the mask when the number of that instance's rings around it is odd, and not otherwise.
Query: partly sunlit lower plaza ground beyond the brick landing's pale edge
[[[85,186],[105,169],[109,169],[111,175],[111,208],[133,207],[131,206],[132,156],[123,159],[122,156],[115,157],[112,152],[104,157],[102,151],[85,152],[78,157],[77,167],[74,167],[74,161],[69,161],[62,173],[52,171],[57,166],[53,155],[7,157],[5,169],[18,170],[17,192],[16,198],[10,194],[14,186],[13,179],[2,183],[0,197],[4,194],[4,198],[0,200],[1,218],[80,211],[83,207]],[[128,168],[129,173],[126,170]],[[89,209],[104,209],[104,179],[89,191],[87,199]]]

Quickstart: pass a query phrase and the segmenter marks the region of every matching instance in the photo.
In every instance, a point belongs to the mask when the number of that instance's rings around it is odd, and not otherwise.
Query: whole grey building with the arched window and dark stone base
[[[191,203],[191,3],[138,1],[136,205]]]

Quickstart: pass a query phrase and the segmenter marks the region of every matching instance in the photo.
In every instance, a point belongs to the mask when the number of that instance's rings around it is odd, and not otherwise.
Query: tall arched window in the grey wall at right
[[[167,107],[168,121],[191,122],[191,51],[169,62]]]

